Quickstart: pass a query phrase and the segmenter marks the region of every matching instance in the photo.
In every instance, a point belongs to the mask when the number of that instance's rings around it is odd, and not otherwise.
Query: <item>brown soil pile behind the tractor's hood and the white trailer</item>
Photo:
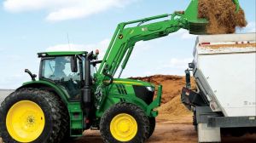
[[[181,122],[182,117],[189,116],[188,120],[192,117],[190,112],[181,102],[181,90],[185,85],[185,77],[171,76],[171,75],[155,75],[149,77],[131,77],[149,83],[154,83],[155,86],[163,85],[163,94],[161,106],[158,108],[160,116],[158,119],[169,120],[175,123]],[[195,82],[192,81],[192,88],[195,88]],[[157,90],[157,89],[156,89]],[[157,92],[157,91],[156,91]],[[182,121],[184,122],[184,121]],[[190,121],[189,121],[190,122]],[[188,122],[186,122],[188,123]]]

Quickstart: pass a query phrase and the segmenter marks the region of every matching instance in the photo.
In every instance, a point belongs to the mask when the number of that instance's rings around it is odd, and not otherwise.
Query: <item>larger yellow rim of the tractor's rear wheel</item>
[[[38,104],[21,100],[9,109],[6,127],[10,136],[19,142],[32,142],[44,130],[44,112]]]

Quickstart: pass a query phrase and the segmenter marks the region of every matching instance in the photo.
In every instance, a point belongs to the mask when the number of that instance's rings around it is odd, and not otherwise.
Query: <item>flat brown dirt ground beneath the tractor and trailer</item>
[[[180,117],[178,117],[180,118]],[[184,120],[191,118],[190,116],[183,117]],[[175,122],[167,120],[158,120],[153,136],[147,143],[196,143],[197,134],[192,123]],[[256,134],[247,134],[242,137],[223,136],[224,143],[255,143]],[[102,143],[102,138],[99,131],[87,131],[84,137],[78,140],[69,141],[67,143]]]

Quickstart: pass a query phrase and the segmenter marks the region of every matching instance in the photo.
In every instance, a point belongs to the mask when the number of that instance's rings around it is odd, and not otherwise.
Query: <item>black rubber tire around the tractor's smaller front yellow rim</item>
[[[110,123],[113,118],[119,114],[128,114],[134,117],[137,121],[137,134],[133,139],[125,141],[125,143],[143,143],[148,138],[149,122],[145,112],[138,106],[131,103],[121,102],[108,109],[104,113],[100,123],[100,131],[105,143],[121,143],[122,141],[116,140],[110,131]]]

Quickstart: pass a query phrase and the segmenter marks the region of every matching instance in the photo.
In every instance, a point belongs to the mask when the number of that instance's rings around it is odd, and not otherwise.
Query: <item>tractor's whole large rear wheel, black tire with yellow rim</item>
[[[16,90],[0,107],[0,136],[3,142],[60,142],[66,130],[61,112],[55,94],[41,89]]]

